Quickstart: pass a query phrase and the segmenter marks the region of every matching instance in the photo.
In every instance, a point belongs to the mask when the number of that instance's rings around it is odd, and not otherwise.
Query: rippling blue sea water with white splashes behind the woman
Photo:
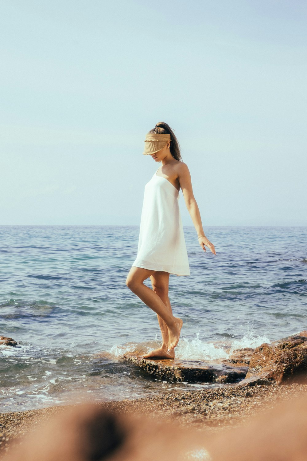
[[[307,329],[307,228],[184,227],[191,276],[170,276],[178,358],[225,356]],[[166,383],[121,360],[156,347],[156,314],[125,285],[138,226],[0,226],[1,411],[213,384]],[[150,286],[150,281],[145,282]]]

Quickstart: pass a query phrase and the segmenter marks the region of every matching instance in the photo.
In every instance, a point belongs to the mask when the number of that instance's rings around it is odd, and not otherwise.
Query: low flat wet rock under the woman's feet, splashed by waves
[[[231,366],[223,363],[206,363],[190,360],[144,359],[144,350],[123,355],[123,359],[145,370],[149,375],[166,381],[194,381],[203,383],[234,383],[243,379],[248,366]]]

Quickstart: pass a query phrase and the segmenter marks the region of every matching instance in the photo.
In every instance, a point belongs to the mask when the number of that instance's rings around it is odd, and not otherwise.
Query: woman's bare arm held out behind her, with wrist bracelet
[[[198,238],[200,246],[203,248],[203,251],[206,251],[206,246],[210,248],[213,254],[216,254],[214,244],[209,242],[208,238],[205,236],[205,233],[203,231],[202,219],[200,217],[199,208],[193,195],[191,174],[188,166],[183,162],[180,162],[178,180],[185,199],[185,205],[188,209],[188,212],[190,213],[191,219],[197,231],[197,236],[200,237]]]

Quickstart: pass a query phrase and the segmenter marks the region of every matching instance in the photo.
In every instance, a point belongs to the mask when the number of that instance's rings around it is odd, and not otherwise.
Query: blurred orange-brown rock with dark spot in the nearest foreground
[[[307,397],[275,400],[239,425],[214,432],[97,404],[65,407],[50,419],[34,418],[33,426],[2,461],[304,461]]]

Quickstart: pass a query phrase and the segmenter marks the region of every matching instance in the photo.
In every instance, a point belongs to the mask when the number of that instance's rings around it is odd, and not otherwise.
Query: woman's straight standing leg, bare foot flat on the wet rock
[[[165,306],[168,308],[168,311],[172,313],[171,303],[168,298],[168,281],[169,281],[169,272],[155,272],[153,275],[150,276],[152,290],[159,296],[159,298],[163,301]],[[145,359],[151,358],[168,358],[174,359],[175,358],[175,351],[174,349],[168,352],[168,327],[162,317],[157,315],[158,323],[160,326],[160,330],[162,333],[162,345],[160,348],[152,350],[148,354],[143,355]]]

